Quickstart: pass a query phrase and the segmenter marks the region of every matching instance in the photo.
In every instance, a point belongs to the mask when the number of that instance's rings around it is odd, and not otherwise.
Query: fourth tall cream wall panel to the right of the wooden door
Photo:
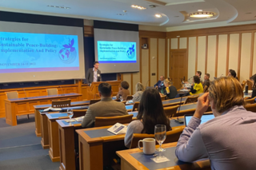
[[[224,76],[226,73],[226,45],[227,34],[218,35],[218,69],[217,77]]]

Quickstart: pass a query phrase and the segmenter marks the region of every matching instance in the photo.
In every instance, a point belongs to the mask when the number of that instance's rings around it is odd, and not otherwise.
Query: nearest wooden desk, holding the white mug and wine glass
[[[165,163],[154,163],[150,160],[153,156],[145,156],[139,148],[127,149],[118,151],[117,154],[121,158],[121,170],[149,170],[149,169],[174,169],[174,170],[195,170],[195,169],[209,169],[210,160],[200,160],[193,164],[178,161],[175,156],[175,147],[177,142],[162,144],[162,148],[166,148],[166,152],[158,152],[158,155],[164,155],[170,159]],[[157,146],[158,148],[158,146]],[[145,161],[147,160],[147,161]],[[152,161],[152,162],[151,162]],[[150,167],[149,167],[150,163]]]

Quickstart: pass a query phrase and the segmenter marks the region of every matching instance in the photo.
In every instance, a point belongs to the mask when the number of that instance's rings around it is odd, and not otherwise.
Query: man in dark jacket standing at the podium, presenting
[[[94,61],[94,68],[88,69],[86,80],[90,85],[92,82],[102,81],[101,70],[98,69],[98,61]]]

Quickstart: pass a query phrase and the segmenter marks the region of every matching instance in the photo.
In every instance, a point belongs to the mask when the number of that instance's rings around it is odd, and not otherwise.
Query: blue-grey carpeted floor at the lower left
[[[0,119],[0,169],[1,170],[58,170],[43,149],[41,137],[35,136],[34,115],[18,117],[18,125],[6,124]]]

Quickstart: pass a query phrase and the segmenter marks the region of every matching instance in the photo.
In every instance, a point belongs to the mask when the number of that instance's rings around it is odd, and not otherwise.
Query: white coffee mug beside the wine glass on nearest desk
[[[143,143],[143,148],[140,147],[140,142]],[[143,150],[144,154],[152,155],[155,152],[155,140],[154,138],[145,138],[138,140],[138,148]]]

